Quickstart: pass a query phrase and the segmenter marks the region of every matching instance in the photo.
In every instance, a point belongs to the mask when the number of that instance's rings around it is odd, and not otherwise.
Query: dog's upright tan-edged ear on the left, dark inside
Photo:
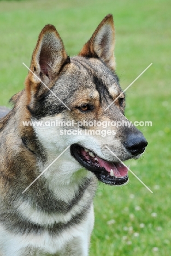
[[[25,84],[30,102],[36,95],[41,96],[51,88],[52,79],[60,73],[61,68],[69,63],[69,56],[64,49],[62,39],[56,28],[52,25],[46,25],[39,34],[36,48],[32,54],[32,61]],[[42,82],[46,85],[44,86]],[[41,86],[42,85],[42,86]]]

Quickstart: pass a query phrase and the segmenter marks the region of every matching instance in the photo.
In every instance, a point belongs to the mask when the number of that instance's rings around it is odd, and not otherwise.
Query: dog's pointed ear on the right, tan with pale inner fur
[[[96,28],[90,40],[83,46],[79,56],[99,58],[110,69],[115,69],[115,31],[113,16],[108,14]]]

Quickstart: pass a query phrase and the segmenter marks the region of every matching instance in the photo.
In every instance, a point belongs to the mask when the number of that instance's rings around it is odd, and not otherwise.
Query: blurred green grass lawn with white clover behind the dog
[[[139,127],[149,142],[124,187],[99,184],[95,198],[92,255],[171,255],[170,220],[170,0],[31,0],[0,1],[0,104],[23,89],[31,54],[45,24],[53,24],[70,56],[104,18],[114,15],[117,74],[126,92],[129,120],[152,121]]]

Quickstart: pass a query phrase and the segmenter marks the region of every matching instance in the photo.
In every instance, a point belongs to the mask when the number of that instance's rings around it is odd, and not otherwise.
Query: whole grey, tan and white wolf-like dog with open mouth
[[[139,158],[148,144],[133,124],[112,125],[128,122],[115,73],[113,16],[75,57],[46,25],[25,89],[10,102],[13,109],[0,119],[0,255],[89,255],[97,181],[127,183],[122,161]],[[23,125],[32,121],[43,125]]]

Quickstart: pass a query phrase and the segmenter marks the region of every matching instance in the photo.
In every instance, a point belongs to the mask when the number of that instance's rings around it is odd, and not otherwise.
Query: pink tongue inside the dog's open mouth
[[[96,156],[96,158],[98,159],[98,162],[101,165],[101,167],[104,167],[105,170],[107,170],[109,173],[112,169],[116,177],[125,177],[128,174],[128,168],[125,165],[121,163],[114,164],[113,162],[105,161],[99,158],[98,156]]]

